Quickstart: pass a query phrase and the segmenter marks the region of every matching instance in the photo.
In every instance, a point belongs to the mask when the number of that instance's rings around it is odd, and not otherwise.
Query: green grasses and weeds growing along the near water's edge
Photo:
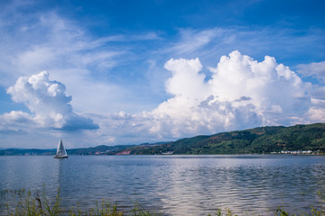
[[[144,206],[138,202],[132,202],[133,209],[129,211],[124,211],[122,207],[119,207],[117,203],[107,202],[103,199],[101,202],[97,202],[94,208],[88,210],[82,210],[79,203],[75,207],[70,207],[65,209],[62,207],[60,198],[60,188],[57,191],[54,199],[49,199],[43,189],[42,193],[32,193],[31,191],[21,190],[2,190],[0,192],[1,199],[11,196],[10,203],[6,203],[6,215],[9,216],[163,216],[163,212],[152,212],[147,211]],[[274,216],[325,216],[325,192],[319,192],[321,202],[317,203],[315,207],[311,206],[311,211],[300,213],[291,213],[286,211],[283,207],[279,206],[276,211],[274,211]],[[1,206],[0,206],[1,207]],[[1,209],[0,209],[1,210]],[[299,211],[299,209],[297,209]],[[0,214],[4,213],[3,210]],[[209,213],[208,216],[240,216],[240,215],[250,215],[250,214],[237,214],[232,210],[217,209],[213,213]],[[264,212],[254,215],[265,215]],[[267,214],[269,215],[269,213]]]

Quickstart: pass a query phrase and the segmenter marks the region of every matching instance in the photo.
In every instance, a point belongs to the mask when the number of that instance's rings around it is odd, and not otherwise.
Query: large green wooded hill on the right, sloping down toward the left
[[[152,154],[262,154],[325,152],[325,123],[273,126],[179,139],[163,145],[131,147],[123,152]]]

